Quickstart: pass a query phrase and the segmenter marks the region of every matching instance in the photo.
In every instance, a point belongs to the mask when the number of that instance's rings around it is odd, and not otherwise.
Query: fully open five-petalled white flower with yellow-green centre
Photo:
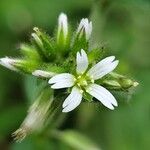
[[[114,56],[110,56],[88,69],[88,57],[82,49],[81,52],[77,52],[76,62],[77,75],[61,73],[49,80],[49,84],[53,84],[51,86],[53,89],[73,87],[70,95],[63,103],[63,112],[75,109],[81,103],[84,92],[89,93],[104,106],[113,110],[114,106],[118,105],[116,99],[107,89],[94,83],[94,81],[112,72],[119,61],[115,60]]]

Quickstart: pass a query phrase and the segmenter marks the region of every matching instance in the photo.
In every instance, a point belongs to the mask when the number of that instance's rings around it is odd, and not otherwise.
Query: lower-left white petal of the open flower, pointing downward
[[[69,112],[75,109],[82,100],[82,94],[77,87],[73,87],[71,94],[65,99],[63,103],[63,111]]]

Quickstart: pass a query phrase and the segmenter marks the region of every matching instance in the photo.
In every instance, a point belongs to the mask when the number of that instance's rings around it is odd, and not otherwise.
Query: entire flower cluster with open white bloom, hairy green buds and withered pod
[[[119,63],[115,56],[101,60],[101,48],[89,49],[92,22],[87,18],[80,21],[76,32],[71,32],[64,13],[58,17],[54,37],[37,27],[34,27],[33,31],[31,44],[20,46],[22,56],[16,59],[1,58],[0,64],[13,71],[46,80],[47,85],[50,84],[51,89],[56,90],[57,97],[62,92],[57,89],[69,88],[64,90],[69,96],[64,94],[62,112],[72,111],[82,101],[100,101],[105,107],[113,110],[118,103],[109,90],[128,91],[138,85],[137,82],[114,72]],[[36,107],[31,107],[21,129],[14,134],[23,133],[21,136],[24,138],[26,129],[37,128],[35,122],[41,124],[45,121],[48,109],[48,102],[46,105],[38,103]]]

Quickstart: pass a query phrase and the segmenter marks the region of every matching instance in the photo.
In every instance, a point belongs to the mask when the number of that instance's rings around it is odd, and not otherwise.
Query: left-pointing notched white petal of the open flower
[[[73,75],[69,73],[61,73],[52,77],[48,83],[53,84],[51,88],[53,89],[61,89],[72,87],[74,85],[75,78]]]

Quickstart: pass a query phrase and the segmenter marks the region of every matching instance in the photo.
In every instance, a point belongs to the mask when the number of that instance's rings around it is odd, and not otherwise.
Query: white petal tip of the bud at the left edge
[[[5,57],[0,59],[0,64],[10,70],[18,71],[13,65],[17,62],[17,60]]]

